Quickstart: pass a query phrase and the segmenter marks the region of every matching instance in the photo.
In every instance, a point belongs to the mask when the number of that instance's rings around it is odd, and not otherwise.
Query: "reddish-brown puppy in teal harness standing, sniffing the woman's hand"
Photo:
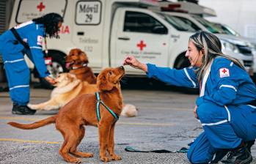
[[[120,80],[123,75],[125,75],[123,67],[106,68],[100,72],[97,81],[100,100],[117,116],[120,116],[122,111]],[[84,125],[92,125],[98,127],[99,131],[100,160],[103,162],[121,160],[121,157],[114,153],[114,126],[117,120],[104,105],[100,104],[100,120],[98,122],[95,110],[97,102],[95,94],[82,94],[63,106],[55,116],[32,124],[16,122],[8,122],[8,124],[29,130],[55,123],[56,129],[62,133],[64,138],[59,154],[68,163],[81,163],[81,159],[78,157],[93,157],[92,153],[78,152],[77,150],[78,144],[84,138]],[[106,152],[109,153],[109,157]]]

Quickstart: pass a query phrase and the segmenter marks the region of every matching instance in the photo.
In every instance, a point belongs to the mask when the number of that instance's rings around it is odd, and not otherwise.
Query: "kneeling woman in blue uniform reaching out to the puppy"
[[[203,127],[191,143],[191,163],[250,163],[250,148],[256,138],[256,87],[244,66],[222,53],[219,39],[206,31],[189,38],[186,57],[191,67],[175,70],[139,62],[127,56],[125,65],[147,73],[149,78],[187,87],[199,87],[194,114]]]

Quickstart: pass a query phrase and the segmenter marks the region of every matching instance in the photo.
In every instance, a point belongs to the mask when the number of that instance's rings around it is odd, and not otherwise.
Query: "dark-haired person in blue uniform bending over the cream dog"
[[[40,77],[49,83],[55,83],[46,69],[42,51],[43,37],[58,38],[63,18],[56,13],[49,13],[40,18],[22,23],[7,30],[0,36],[0,53],[13,103],[13,114],[34,114],[29,103],[29,67],[24,54],[34,63]]]

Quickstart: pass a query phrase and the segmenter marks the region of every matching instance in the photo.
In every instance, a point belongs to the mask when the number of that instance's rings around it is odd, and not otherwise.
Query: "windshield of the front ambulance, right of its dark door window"
[[[182,18],[175,15],[168,15],[164,13],[157,13],[161,18],[164,18],[164,20],[167,20],[169,24],[171,24],[175,29],[178,31],[189,31],[189,32],[195,32],[200,30],[198,26],[196,26],[191,20],[187,18]]]

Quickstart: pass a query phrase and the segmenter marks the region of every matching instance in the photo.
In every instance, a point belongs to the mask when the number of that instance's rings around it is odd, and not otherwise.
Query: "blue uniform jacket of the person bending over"
[[[10,54],[13,60],[18,59],[18,56],[15,56],[16,53],[26,53],[37,68],[40,77],[44,78],[48,76],[49,72],[45,67],[42,51],[43,37],[45,36],[43,24],[35,24],[33,21],[29,21],[15,26],[15,29],[18,31],[21,39],[29,44],[30,52],[29,50],[25,50],[20,42],[17,42],[10,30],[0,36],[1,51]]]

